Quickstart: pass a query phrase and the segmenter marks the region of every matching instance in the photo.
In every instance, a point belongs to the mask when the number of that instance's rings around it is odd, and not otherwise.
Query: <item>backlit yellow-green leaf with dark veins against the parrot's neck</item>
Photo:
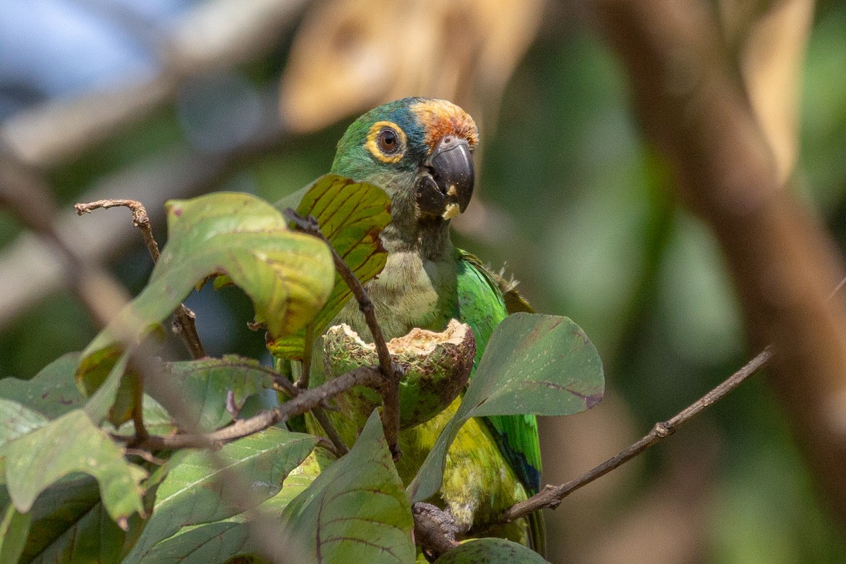
[[[391,222],[391,200],[381,189],[327,174],[317,179],[299,202],[300,216],[315,216],[321,231],[344,262],[365,283],[382,271],[387,251],[379,233]],[[349,287],[335,274],[332,294],[314,320],[320,335],[349,300]],[[268,341],[268,348],[286,359],[302,359],[305,331]]]

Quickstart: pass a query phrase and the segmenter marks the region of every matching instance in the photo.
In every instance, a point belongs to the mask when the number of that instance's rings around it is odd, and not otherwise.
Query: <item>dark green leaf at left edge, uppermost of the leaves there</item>
[[[47,364],[30,380],[4,378],[0,380],[0,397],[41,413],[47,419],[80,408],[85,396],[74,383],[80,353],[67,353]]]

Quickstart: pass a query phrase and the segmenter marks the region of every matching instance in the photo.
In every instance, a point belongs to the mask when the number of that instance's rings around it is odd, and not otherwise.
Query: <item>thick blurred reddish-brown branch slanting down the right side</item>
[[[835,244],[779,178],[709,3],[582,6],[618,52],[684,200],[714,233],[752,342],[777,349],[767,381],[846,526],[846,302],[826,303],[843,277]]]

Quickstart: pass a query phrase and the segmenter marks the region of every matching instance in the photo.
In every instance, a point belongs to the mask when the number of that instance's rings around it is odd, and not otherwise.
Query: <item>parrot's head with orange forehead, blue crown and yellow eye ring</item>
[[[452,102],[403,98],[349,126],[332,172],[384,189],[395,227],[436,227],[470,203],[478,138],[473,118]]]

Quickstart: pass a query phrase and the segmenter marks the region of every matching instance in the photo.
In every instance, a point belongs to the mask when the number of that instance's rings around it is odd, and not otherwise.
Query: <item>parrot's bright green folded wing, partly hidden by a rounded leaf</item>
[[[514,284],[488,271],[475,256],[457,251],[458,304],[456,317],[470,325],[476,339],[476,363],[499,322],[514,311],[531,311]],[[511,307],[508,307],[511,306]],[[500,452],[530,494],[541,488],[541,446],[535,415],[486,417]]]

